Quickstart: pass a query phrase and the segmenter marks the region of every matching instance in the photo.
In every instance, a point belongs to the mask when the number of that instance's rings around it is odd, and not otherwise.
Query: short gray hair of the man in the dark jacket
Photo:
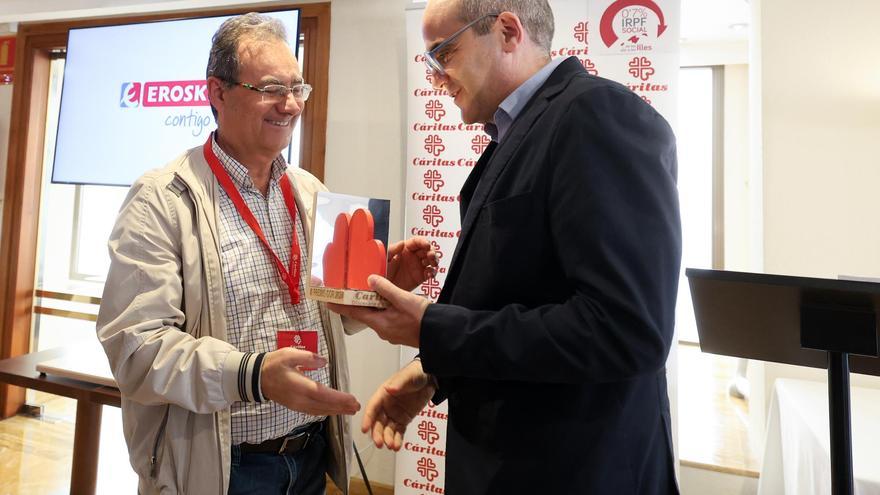
[[[550,52],[553,42],[553,11],[547,0],[459,0],[458,17],[468,23],[486,14],[512,12],[519,17],[532,43]],[[476,34],[486,34],[495,19],[487,18],[474,25]]]

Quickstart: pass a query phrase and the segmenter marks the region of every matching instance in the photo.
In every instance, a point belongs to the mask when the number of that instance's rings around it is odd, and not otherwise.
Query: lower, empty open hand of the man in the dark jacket
[[[379,386],[367,403],[361,431],[372,430],[376,447],[400,450],[406,426],[425,407],[434,390],[434,379],[422,371],[422,362],[416,359]]]

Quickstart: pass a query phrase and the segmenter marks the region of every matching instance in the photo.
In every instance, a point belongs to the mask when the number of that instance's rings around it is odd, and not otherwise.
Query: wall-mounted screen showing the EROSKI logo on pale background
[[[265,14],[284,23],[295,53],[299,11]],[[72,29],[52,182],[131,185],[204,144],[216,128],[205,68],[229,17]]]

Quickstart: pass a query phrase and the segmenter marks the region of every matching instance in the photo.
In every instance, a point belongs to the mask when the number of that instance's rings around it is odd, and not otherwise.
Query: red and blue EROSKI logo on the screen
[[[204,80],[124,82],[119,106],[124,108],[208,106],[208,83]]]

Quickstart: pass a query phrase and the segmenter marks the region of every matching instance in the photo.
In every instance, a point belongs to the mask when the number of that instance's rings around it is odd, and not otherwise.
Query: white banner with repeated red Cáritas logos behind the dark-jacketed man
[[[575,56],[593,75],[626,85],[674,127],[679,0],[551,0],[552,56]],[[431,88],[422,53],[422,10],[408,10],[406,235],[427,237],[441,253],[435,280],[421,292],[435,300],[460,233],[458,194],[489,144],[482,125],[461,122],[445,91]],[[401,365],[415,355],[401,352]],[[444,493],[446,403],[426,407],[397,454],[397,495]]]

